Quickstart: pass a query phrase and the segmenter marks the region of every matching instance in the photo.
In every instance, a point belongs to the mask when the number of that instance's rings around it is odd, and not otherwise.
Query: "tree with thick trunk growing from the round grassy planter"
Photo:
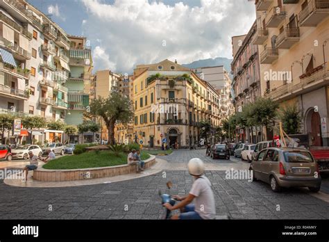
[[[128,97],[112,92],[108,98],[99,97],[90,103],[87,117],[101,116],[108,129],[108,144],[115,144],[115,123],[127,124],[133,119],[133,103]]]

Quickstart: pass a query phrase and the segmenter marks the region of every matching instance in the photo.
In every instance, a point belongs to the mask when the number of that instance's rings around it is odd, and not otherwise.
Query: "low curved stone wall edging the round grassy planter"
[[[152,156],[145,161],[145,168],[150,168],[155,164],[155,156]],[[78,181],[85,179],[95,179],[103,177],[114,177],[135,173],[136,166],[121,165],[108,166],[103,168],[85,168],[71,170],[49,170],[42,167],[33,171],[33,179],[37,181]]]

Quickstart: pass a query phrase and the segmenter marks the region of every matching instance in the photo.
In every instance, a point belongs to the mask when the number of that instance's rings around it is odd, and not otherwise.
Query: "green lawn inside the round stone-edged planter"
[[[126,153],[119,153],[115,156],[109,151],[85,152],[83,154],[62,156],[44,164],[44,169],[49,170],[67,170],[67,169],[83,169],[83,168],[99,168],[106,166],[119,166],[127,164]],[[142,160],[149,159],[150,155],[142,152]]]

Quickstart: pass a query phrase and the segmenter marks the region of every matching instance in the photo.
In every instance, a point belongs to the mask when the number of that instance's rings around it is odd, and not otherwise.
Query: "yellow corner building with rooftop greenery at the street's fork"
[[[142,140],[149,147],[160,147],[166,140],[188,147],[200,140],[201,120],[219,125],[217,91],[176,61],[137,65],[133,104],[135,142]]]

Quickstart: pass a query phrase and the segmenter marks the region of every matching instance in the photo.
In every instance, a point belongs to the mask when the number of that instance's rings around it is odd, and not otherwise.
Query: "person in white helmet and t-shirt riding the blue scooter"
[[[174,206],[169,203],[163,204],[170,211],[180,209],[180,214],[171,216],[171,219],[214,219],[216,216],[216,207],[214,202],[214,193],[212,193],[211,183],[203,175],[205,166],[199,158],[189,160],[187,164],[189,175],[194,178],[191,191],[185,197],[173,196],[181,201]],[[194,200],[194,204],[190,204]]]

